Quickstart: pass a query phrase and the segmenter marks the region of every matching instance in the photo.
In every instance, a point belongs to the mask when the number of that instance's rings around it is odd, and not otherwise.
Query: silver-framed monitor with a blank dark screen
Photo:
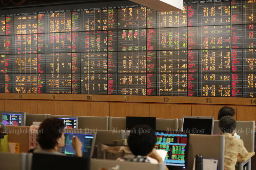
[[[207,116],[183,116],[182,131],[191,134],[213,134],[214,117]]]

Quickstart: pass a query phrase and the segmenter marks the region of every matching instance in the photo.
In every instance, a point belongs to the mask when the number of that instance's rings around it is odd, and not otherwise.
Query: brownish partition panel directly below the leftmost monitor
[[[20,153],[29,150],[29,126],[5,126],[8,142],[20,143]]]

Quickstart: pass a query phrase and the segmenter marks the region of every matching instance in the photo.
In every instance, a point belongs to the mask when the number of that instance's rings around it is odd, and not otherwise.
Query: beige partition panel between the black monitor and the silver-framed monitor
[[[156,119],[156,130],[178,130],[178,119]]]

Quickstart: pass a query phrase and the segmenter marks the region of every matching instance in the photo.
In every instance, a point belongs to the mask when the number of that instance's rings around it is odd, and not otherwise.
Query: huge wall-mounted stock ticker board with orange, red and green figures
[[[2,15],[0,92],[256,97],[256,0],[207,2]]]

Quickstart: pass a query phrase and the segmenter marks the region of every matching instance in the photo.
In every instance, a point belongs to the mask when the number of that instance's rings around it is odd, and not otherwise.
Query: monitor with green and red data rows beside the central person
[[[169,168],[187,168],[188,162],[188,134],[169,133],[166,131],[156,132],[155,149],[167,151],[164,159],[165,165]]]

